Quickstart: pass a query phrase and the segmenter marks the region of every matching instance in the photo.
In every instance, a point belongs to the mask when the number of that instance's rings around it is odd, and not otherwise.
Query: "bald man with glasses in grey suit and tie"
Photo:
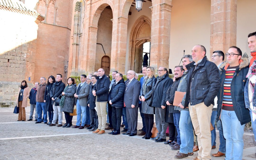
[[[126,117],[128,131],[124,135],[137,135],[138,107],[140,95],[140,82],[135,79],[135,72],[128,71],[126,74],[128,81],[125,83],[124,104],[126,106]]]

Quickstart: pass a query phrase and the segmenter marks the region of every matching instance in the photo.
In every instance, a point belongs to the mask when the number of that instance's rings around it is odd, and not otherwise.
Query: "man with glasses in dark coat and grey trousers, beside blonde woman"
[[[168,88],[173,84],[173,80],[169,78],[169,72],[166,68],[159,67],[157,72],[157,81],[155,87],[152,88],[152,99],[149,104],[149,106],[155,107],[156,128],[158,130],[157,136],[152,138],[152,140],[155,140],[155,142],[165,142],[165,133],[168,125],[168,123],[165,123],[165,98]]]

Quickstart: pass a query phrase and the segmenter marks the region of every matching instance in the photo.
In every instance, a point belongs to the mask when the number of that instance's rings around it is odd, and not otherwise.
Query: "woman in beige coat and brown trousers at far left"
[[[27,107],[27,99],[29,97],[29,88],[27,85],[27,81],[23,80],[20,85],[19,95],[17,98],[17,107],[19,107],[19,116],[17,121],[26,121],[26,111],[25,107]]]

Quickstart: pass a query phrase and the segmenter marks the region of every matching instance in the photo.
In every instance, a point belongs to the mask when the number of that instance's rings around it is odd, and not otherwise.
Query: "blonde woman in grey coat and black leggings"
[[[151,101],[151,97],[153,93],[152,88],[154,88],[156,84],[155,69],[153,67],[148,67],[146,73],[147,73],[147,78],[143,80],[141,93],[140,93],[140,98],[142,100],[141,112],[144,114],[144,120],[145,120],[145,126],[146,126],[146,135],[142,138],[150,139],[152,135],[151,130],[154,124],[155,108],[150,107],[149,103]]]

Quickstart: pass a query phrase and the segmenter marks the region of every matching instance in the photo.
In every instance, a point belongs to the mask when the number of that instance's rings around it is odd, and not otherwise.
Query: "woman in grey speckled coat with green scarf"
[[[74,105],[75,105],[75,97],[74,94],[76,93],[76,86],[75,80],[71,77],[68,78],[67,81],[68,85],[62,92],[62,97],[60,100],[60,111],[65,113],[65,119],[66,119],[66,126],[63,127],[71,127],[72,122],[69,113],[73,113],[74,111]]]

